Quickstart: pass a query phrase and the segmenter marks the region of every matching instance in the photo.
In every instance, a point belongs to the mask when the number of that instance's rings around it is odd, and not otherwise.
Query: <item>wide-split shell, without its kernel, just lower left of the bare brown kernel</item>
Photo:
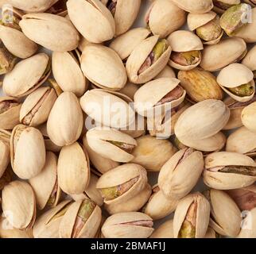
[[[180,92],[180,97],[169,100],[168,102],[161,102],[161,99],[175,90],[180,84],[179,79],[175,78],[161,78],[154,79],[149,83],[145,83],[140,87],[134,94],[134,108],[138,114],[142,116],[153,116],[153,113],[161,113],[161,110],[167,110],[178,106],[184,101],[186,91],[180,87],[182,90]],[[157,105],[159,102],[160,105]]]

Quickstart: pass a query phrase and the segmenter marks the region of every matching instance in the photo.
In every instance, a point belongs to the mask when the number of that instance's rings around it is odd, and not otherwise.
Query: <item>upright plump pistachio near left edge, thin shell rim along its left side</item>
[[[30,179],[38,175],[45,165],[45,142],[41,132],[17,125],[10,137],[10,160],[19,178]]]

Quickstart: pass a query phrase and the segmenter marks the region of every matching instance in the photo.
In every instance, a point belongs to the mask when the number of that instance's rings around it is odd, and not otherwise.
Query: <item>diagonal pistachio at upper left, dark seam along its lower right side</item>
[[[5,75],[2,89],[10,96],[23,97],[40,87],[51,73],[48,55],[39,53],[17,63]]]

